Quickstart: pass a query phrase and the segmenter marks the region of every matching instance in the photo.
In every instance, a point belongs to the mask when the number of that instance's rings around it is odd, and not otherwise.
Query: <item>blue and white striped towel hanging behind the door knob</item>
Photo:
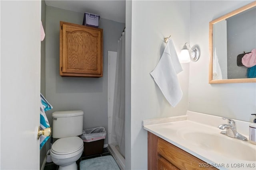
[[[47,127],[50,127],[45,111],[48,111],[52,108],[53,108],[52,105],[50,105],[49,102],[47,102],[47,100],[44,98],[44,96],[40,94],[40,129],[41,130]],[[44,146],[44,144],[49,138],[50,137],[46,137],[44,135],[40,136],[40,149]]]

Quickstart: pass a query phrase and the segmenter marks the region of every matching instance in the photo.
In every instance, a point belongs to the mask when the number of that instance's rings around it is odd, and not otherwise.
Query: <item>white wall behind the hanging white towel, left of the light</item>
[[[188,109],[189,64],[183,64],[184,70],[178,74],[183,97],[175,108],[164,98],[150,72],[164,51],[164,37],[172,35],[178,54],[184,43],[189,41],[190,9],[188,1],[131,3],[131,127],[127,129],[129,126],[126,126],[126,132],[131,134],[131,141],[128,142],[130,146],[126,146],[126,152],[130,152],[126,153],[126,169],[144,170],[147,169],[147,131],[142,127],[142,120],[185,115]],[[126,25],[127,23],[126,21]],[[130,30],[127,30],[127,37]],[[127,50],[130,49],[126,46]],[[126,138],[127,140],[129,139]],[[127,157],[129,154],[130,157]]]

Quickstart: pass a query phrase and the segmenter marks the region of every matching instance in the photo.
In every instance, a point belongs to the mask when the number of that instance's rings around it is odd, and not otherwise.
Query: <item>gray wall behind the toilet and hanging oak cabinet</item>
[[[46,6],[46,99],[53,106],[46,115],[52,124],[52,112],[80,109],[84,111],[84,129],[103,126],[108,131],[107,51],[117,51],[117,42],[125,24],[100,18],[99,27],[103,29],[103,77],[61,77],[60,21],[82,24],[83,18],[82,13]],[[108,137],[104,143],[108,143]]]

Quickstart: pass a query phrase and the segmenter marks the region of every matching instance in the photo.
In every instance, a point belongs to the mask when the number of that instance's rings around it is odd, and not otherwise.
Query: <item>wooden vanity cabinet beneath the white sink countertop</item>
[[[148,132],[148,170],[217,170],[210,164]]]

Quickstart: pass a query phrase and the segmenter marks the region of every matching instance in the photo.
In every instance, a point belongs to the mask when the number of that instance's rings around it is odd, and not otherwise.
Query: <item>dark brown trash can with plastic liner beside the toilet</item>
[[[84,141],[84,156],[101,154],[103,152],[106,130],[104,127],[84,129],[81,139]]]

